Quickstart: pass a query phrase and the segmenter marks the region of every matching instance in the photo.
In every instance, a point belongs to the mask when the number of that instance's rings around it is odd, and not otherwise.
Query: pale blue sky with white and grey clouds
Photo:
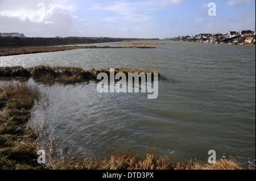
[[[255,0],[0,0],[0,32],[26,37],[163,39],[240,30],[255,30]]]

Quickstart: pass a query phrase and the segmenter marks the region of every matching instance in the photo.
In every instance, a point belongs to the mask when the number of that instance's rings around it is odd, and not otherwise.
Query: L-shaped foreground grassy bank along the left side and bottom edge
[[[38,133],[26,124],[31,119],[31,108],[35,100],[42,98],[36,86],[25,84],[0,86],[0,169],[52,169],[52,170],[237,170],[241,163],[231,159],[220,159],[216,164],[189,161],[174,164],[152,149],[145,158],[133,151],[107,154],[106,157],[85,158],[83,160],[61,157],[49,158],[46,165],[36,162],[39,150],[36,144]]]

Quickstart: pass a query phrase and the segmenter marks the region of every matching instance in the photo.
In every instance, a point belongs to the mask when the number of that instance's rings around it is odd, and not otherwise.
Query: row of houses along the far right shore
[[[255,44],[255,31],[229,31],[226,34],[222,33],[200,33],[195,36],[178,36],[172,37],[172,41],[192,41],[200,43],[215,43],[215,44]]]

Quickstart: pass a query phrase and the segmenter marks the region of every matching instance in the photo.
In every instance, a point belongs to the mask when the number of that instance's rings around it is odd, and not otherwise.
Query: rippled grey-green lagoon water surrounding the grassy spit
[[[159,70],[157,99],[98,93],[97,83],[45,85],[30,124],[47,125],[61,153],[94,157],[132,149],[185,162],[232,155],[255,165],[255,46],[163,41],[156,49],[75,49],[0,57],[0,66],[129,67]],[[117,43],[116,43],[117,44]],[[104,45],[116,45],[105,43]],[[96,44],[97,45],[97,44]],[[5,81],[2,81],[2,83]],[[0,82],[1,83],[1,82]]]

